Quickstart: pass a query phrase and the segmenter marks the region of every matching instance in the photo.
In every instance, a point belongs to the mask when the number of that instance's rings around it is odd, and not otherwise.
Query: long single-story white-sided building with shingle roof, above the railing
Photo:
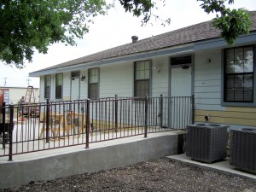
[[[32,72],[40,102],[118,96],[194,96],[195,122],[256,125],[256,11],[232,46],[211,20]]]

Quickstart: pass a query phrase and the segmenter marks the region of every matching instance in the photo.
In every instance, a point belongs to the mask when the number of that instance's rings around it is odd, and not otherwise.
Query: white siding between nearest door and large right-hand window
[[[195,54],[194,91],[196,109],[224,110],[221,106],[220,49]]]

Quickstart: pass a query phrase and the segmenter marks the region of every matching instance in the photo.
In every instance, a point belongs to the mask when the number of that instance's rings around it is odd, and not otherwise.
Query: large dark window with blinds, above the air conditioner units
[[[224,102],[253,102],[253,46],[224,49]]]

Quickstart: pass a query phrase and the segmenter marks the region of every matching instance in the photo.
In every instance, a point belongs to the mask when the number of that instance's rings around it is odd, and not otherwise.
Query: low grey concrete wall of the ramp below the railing
[[[176,133],[159,137],[140,137],[125,143],[121,143],[121,140],[115,140],[116,143],[111,145],[105,143],[103,147],[1,163],[0,188],[84,172],[98,172],[177,154]]]

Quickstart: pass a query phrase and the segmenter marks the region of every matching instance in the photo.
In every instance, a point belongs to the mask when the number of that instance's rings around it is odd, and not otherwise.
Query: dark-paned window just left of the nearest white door
[[[150,61],[135,62],[134,96],[149,96]]]

